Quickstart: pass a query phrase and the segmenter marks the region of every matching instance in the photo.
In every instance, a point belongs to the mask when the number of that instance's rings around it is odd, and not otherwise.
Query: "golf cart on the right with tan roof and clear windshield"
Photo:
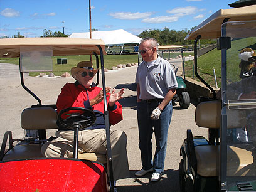
[[[238,57],[244,48],[256,51],[256,5],[220,9],[185,39],[195,40],[196,48],[200,38],[218,40],[221,94],[216,99],[213,88],[198,75],[195,49],[195,74],[213,98],[201,99],[195,112],[196,124],[208,129],[209,137],[193,136],[188,129],[181,146],[181,191],[256,191],[256,98],[242,97],[256,90],[256,74],[240,79]]]

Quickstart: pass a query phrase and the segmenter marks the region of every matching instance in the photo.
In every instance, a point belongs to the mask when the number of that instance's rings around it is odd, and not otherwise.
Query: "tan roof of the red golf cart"
[[[53,56],[64,55],[100,55],[97,46],[101,46],[103,54],[105,43],[102,40],[86,38],[4,38],[0,39],[0,57],[13,58],[20,56],[20,48],[29,46],[51,46]]]

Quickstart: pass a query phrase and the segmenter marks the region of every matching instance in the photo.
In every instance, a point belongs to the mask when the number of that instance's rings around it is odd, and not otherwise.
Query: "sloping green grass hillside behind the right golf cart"
[[[238,54],[243,48],[250,47],[256,50],[256,38],[242,38],[233,40],[231,48],[227,51],[227,81],[232,83],[240,80],[240,58]],[[186,61],[185,74],[186,77],[193,78],[194,61]],[[211,86],[215,87],[215,79],[213,77],[213,68],[215,68],[218,88],[221,87],[221,51],[216,48],[198,58],[198,74]],[[194,79],[198,80],[195,77]],[[199,81],[199,80],[198,80]]]

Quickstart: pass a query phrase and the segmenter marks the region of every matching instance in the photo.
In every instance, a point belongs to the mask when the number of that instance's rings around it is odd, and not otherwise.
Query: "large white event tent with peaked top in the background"
[[[90,32],[85,33],[72,33],[70,38],[90,38]],[[92,39],[101,39],[107,45],[107,51],[109,46],[121,45],[122,50],[124,44],[139,44],[141,38],[136,35],[124,31],[124,29],[114,30],[114,31],[92,31]],[[122,51],[121,50],[121,51]]]

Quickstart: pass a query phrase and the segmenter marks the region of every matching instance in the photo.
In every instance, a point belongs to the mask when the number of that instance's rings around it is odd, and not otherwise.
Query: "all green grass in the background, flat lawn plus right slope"
[[[240,80],[240,59],[238,58],[239,52],[246,47],[250,47],[256,51],[256,38],[243,38],[232,41],[232,48],[227,51],[227,79],[229,82],[235,82]],[[161,53],[160,53],[161,55]],[[181,55],[178,52],[171,52],[170,57],[176,58]],[[193,55],[192,52],[184,52],[183,56]],[[162,55],[161,55],[162,56]],[[169,53],[164,52],[163,58],[168,58]],[[68,63],[65,65],[57,65],[57,58],[67,58]],[[1,59],[1,58],[0,58]],[[5,59],[5,58],[2,58]],[[14,63],[18,65],[18,58],[11,58],[11,61],[0,61],[7,63]],[[53,73],[55,75],[61,75],[65,72],[70,72],[72,67],[75,67],[79,61],[90,60],[90,56],[54,56],[53,57]],[[107,69],[111,69],[112,66],[126,63],[136,63],[138,55],[105,55],[104,66]],[[92,56],[93,65],[95,66],[95,56]],[[193,63],[194,61],[186,61],[185,63],[185,75],[186,77],[193,78]],[[198,58],[198,74],[211,86],[215,87],[215,79],[213,76],[213,68],[215,68],[216,79],[218,88],[221,87],[221,51],[214,50],[209,51],[205,55]],[[50,73],[50,72],[48,72]],[[48,74],[47,73],[47,74]],[[39,72],[29,73],[29,75],[36,76]],[[194,79],[198,80],[195,77]],[[199,81],[199,80],[198,80]]]

